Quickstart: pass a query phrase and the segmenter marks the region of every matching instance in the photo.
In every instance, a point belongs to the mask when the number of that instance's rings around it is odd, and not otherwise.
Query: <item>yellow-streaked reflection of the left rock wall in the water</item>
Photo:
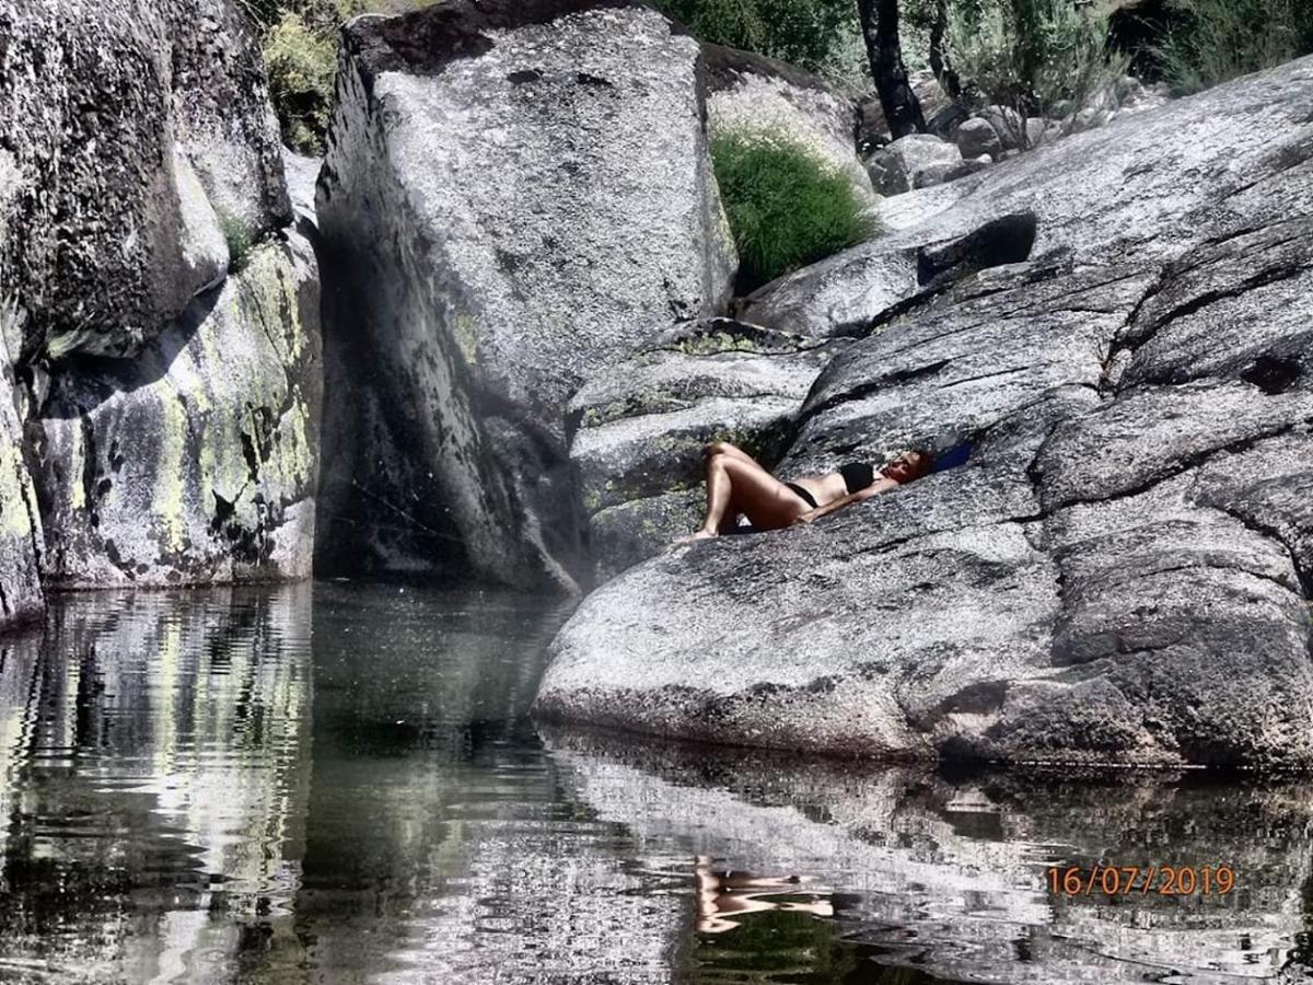
[[[39,661],[0,672],[0,950],[92,977],[196,977],[290,902],[309,607],[309,587],[53,607]]]

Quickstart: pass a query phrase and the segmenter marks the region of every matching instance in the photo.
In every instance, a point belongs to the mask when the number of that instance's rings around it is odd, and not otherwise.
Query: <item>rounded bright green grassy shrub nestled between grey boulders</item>
[[[712,160],[739,251],[743,289],[880,231],[847,175],[775,131],[726,130]]]

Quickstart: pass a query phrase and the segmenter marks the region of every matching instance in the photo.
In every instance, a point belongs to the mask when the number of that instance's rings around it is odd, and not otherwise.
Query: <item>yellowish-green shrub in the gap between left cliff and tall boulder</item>
[[[265,37],[264,63],[284,142],[302,154],[322,154],[332,118],[336,39],[285,13]]]

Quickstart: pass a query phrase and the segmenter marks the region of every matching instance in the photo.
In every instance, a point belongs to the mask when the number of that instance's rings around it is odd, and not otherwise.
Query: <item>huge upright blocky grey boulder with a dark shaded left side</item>
[[[574,587],[570,394],[727,299],[701,77],[697,43],[638,4],[347,26],[318,201],[344,285],[326,570]]]

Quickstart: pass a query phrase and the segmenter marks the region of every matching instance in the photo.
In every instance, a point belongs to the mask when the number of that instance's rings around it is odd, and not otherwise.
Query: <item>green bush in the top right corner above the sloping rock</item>
[[[1154,51],[1178,93],[1288,62],[1313,51],[1306,0],[1173,0],[1180,24]]]

